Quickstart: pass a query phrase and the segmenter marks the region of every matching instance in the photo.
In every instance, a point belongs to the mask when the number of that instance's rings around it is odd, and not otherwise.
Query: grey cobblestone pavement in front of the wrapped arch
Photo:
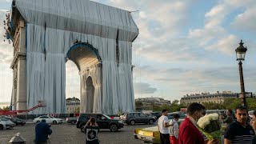
[[[25,126],[15,126],[13,130],[0,130],[0,143],[7,144],[10,138],[14,137],[18,132],[26,139],[26,144],[33,144],[34,140],[34,124],[26,124]],[[124,126],[118,132],[110,132],[110,130],[101,130],[98,139],[101,144],[130,144],[144,142],[134,139],[134,129],[139,127],[150,127],[154,125],[135,125]],[[51,144],[84,144],[86,141],[85,134],[76,125],[63,123],[60,125],[52,125],[53,134],[50,135]]]

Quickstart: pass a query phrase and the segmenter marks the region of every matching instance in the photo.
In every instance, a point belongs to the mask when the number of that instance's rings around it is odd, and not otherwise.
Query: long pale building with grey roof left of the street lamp
[[[233,93],[231,91],[222,91],[220,93],[217,91],[215,94],[210,93],[202,93],[202,94],[186,94],[183,98],[181,98],[181,103],[190,104],[193,102],[203,103],[222,103],[225,98],[238,98],[238,93]]]

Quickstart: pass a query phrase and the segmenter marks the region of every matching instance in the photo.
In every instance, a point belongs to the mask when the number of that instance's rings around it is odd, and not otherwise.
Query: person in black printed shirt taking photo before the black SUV
[[[86,144],[99,144],[99,141],[98,141],[99,126],[94,117],[90,117],[89,121],[86,122],[84,131],[86,132]]]

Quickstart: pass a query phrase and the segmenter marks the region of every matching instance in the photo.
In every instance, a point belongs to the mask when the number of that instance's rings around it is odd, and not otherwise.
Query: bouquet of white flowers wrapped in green
[[[206,114],[198,120],[198,130],[206,136],[208,140],[220,139],[222,130],[218,121],[218,114]]]

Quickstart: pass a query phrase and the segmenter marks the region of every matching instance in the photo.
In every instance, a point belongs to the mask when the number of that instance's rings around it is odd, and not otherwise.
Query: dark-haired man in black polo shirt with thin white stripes
[[[238,106],[235,109],[236,122],[233,122],[225,130],[224,144],[232,143],[252,143],[254,139],[254,129],[247,122],[249,118],[246,106]]]

